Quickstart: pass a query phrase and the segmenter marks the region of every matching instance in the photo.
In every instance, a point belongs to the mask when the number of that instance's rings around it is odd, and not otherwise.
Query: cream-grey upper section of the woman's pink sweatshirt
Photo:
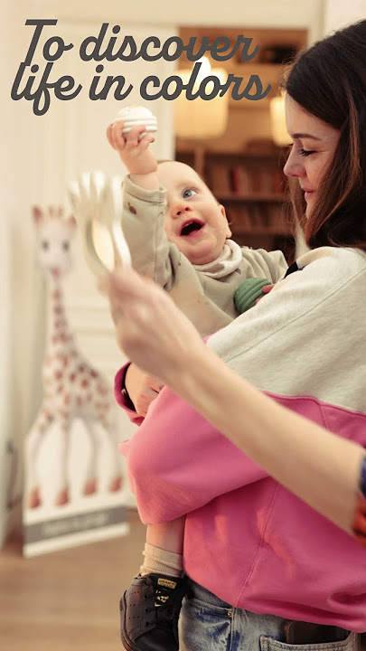
[[[366,411],[366,254],[324,247],[208,345],[259,389]]]

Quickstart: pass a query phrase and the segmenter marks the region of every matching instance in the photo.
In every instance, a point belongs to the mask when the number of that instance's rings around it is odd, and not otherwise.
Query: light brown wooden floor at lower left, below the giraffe
[[[23,559],[0,552],[1,651],[121,651],[118,601],[143,560],[135,511],[123,538]]]

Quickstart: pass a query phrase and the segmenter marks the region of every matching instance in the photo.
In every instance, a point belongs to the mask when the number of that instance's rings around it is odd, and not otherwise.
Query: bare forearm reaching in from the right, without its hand
[[[351,533],[364,448],[277,404],[203,345],[195,365],[186,369],[186,362],[174,392],[268,475]]]

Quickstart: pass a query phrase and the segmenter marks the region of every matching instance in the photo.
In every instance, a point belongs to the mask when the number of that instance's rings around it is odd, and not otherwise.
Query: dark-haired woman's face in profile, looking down
[[[305,193],[306,217],[311,214],[316,192],[328,169],[340,138],[340,131],[308,113],[286,95],[286,127],[293,139],[287,158],[286,176],[296,176]]]

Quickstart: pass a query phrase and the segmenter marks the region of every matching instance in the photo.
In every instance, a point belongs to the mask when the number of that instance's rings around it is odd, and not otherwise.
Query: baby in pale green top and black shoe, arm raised
[[[238,316],[234,293],[240,283],[276,283],[285,275],[286,259],[279,250],[240,248],[230,240],[224,207],[192,167],[156,161],[154,136],[141,137],[143,126],[123,134],[123,127],[123,121],[109,125],[107,137],[129,172],[123,231],[132,264],[171,294],[202,337],[211,335]],[[121,388],[128,406],[126,374]],[[178,651],[183,530],[184,518],[147,526],[144,565],[121,599],[121,637],[130,651]],[[145,613],[147,593],[153,606]]]

